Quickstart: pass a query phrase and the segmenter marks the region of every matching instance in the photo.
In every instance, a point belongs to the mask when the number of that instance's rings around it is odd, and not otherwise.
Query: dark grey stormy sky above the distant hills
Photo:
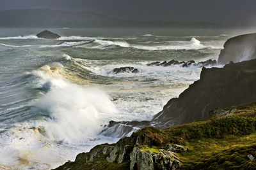
[[[129,20],[256,22],[255,0],[1,0],[0,10],[96,11]]]

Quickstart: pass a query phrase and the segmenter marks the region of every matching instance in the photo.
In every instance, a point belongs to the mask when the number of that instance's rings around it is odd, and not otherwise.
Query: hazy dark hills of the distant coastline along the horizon
[[[8,17],[6,17],[8,16]],[[76,20],[74,20],[76,18]],[[243,28],[255,25],[175,22],[161,20],[125,20],[92,11],[6,10],[0,11],[0,27],[70,27],[70,28]]]

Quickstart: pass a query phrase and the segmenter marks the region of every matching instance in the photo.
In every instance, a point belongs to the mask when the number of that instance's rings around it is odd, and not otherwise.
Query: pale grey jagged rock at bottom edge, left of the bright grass
[[[160,153],[154,153],[149,150],[143,150],[134,147],[130,154],[130,169],[154,170],[154,169],[178,169],[181,166],[181,160],[173,152],[159,150]]]

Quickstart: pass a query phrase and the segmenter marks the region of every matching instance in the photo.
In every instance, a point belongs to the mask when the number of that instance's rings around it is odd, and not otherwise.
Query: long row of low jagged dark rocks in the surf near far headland
[[[206,60],[202,62],[195,63],[194,60],[189,60],[187,62],[185,61],[177,61],[177,60],[170,60],[169,62],[164,61],[164,62],[151,62],[148,63],[147,66],[172,66],[172,65],[181,65],[182,67],[189,67],[189,66],[197,66],[197,67],[206,67],[206,66],[215,66],[216,65],[216,60]]]

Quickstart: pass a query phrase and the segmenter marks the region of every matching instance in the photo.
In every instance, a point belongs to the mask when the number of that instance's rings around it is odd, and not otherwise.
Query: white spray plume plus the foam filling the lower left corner
[[[32,72],[40,77],[35,85],[48,92],[31,106],[48,117],[17,123],[0,133],[0,169],[51,169],[94,145],[116,142],[115,138],[99,139],[102,125],[116,117],[109,96],[63,80],[51,73],[51,67],[64,68],[53,62]]]

